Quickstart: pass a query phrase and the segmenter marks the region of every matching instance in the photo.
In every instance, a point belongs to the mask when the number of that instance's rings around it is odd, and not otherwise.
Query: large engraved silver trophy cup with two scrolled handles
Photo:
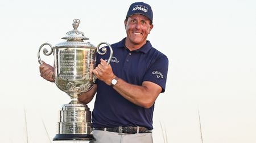
[[[38,51],[39,63],[43,64],[40,58],[40,50],[44,45],[51,47],[51,50],[43,49],[44,55],[54,55],[54,78],[55,84],[63,92],[71,97],[71,102],[63,105],[60,110],[60,119],[57,123],[57,134],[53,141],[86,141],[95,140],[90,132],[92,131],[91,112],[87,105],[80,103],[78,97],[81,93],[87,92],[93,86],[96,76],[93,69],[96,67],[96,53],[106,54],[106,47],[109,46],[110,57],[113,55],[112,47],[102,42],[97,47],[89,42],[84,42],[89,38],[84,37],[84,33],[77,30],[80,20],[73,21],[73,30],[67,32],[67,36],[56,46],[44,43]]]

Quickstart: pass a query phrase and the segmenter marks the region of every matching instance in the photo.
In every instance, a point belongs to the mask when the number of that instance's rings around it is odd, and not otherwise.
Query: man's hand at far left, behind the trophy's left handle
[[[51,65],[43,62],[43,64],[40,65],[39,70],[40,70],[40,75],[44,79],[51,81],[51,82],[55,81],[54,68]]]

